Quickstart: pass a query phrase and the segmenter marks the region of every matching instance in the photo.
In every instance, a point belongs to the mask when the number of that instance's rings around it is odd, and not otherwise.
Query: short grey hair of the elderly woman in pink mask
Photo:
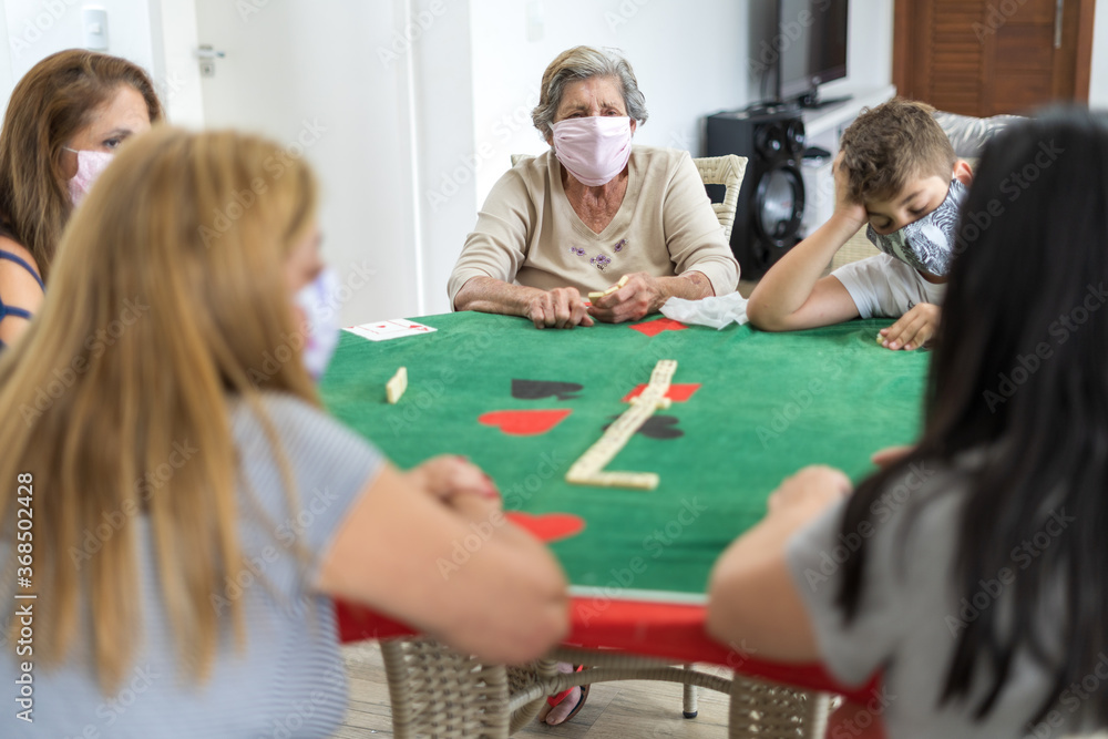
[[[593,47],[574,47],[558,54],[543,72],[543,89],[538,104],[531,111],[531,121],[544,140],[551,134],[551,125],[562,104],[566,83],[594,76],[618,80],[627,115],[639,124],[646,123],[646,97],[639,91],[638,80],[627,60],[615,52]]]

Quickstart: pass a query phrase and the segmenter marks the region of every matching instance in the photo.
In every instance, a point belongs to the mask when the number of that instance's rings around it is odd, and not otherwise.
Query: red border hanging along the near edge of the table
[[[649,603],[645,601],[573,598],[566,647],[614,649],[675,663],[710,663],[730,667],[750,677],[833,692],[855,704],[871,700],[880,679],[874,676],[859,687],[839,684],[820,663],[786,664],[759,659],[743,645],[722,645],[705,633],[702,605]],[[406,626],[362,606],[336,602],[339,639],[361,642],[416,634]]]

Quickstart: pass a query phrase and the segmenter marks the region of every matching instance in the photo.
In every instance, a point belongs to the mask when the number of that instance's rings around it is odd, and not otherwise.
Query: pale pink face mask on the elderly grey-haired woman
[[[605,185],[630,158],[630,119],[597,115],[566,119],[551,126],[558,162],[589,187]]]

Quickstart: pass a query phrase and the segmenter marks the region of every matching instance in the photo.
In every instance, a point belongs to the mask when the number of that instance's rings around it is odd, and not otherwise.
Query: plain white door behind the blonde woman
[[[204,122],[304,156],[322,189],[324,253],[345,325],[424,312],[407,60],[372,50],[399,2],[196,0],[196,39],[223,58],[201,78]],[[173,34],[173,29],[166,29]]]

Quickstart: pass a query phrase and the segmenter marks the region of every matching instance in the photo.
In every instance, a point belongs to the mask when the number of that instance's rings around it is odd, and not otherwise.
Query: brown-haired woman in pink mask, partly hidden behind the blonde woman
[[[42,304],[62,228],[93,179],[160,120],[150,75],[117,57],[60,51],[16,85],[0,131],[0,348]]]

